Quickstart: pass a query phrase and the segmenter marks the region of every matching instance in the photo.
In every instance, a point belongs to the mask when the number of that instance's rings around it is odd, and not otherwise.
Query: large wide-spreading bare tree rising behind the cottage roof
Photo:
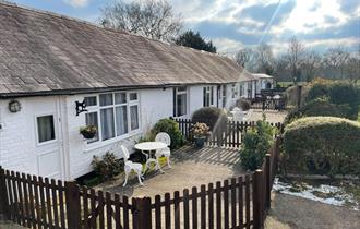
[[[99,21],[104,27],[166,41],[172,41],[182,28],[180,14],[167,0],[120,0],[101,9]]]

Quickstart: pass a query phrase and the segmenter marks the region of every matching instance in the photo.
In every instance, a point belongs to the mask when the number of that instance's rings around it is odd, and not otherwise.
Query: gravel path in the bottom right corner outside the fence
[[[265,229],[358,229],[360,212],[273,193]]]

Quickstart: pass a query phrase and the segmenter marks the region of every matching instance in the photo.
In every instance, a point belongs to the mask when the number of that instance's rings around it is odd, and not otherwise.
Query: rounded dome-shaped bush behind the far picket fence
[[[226,125],[228,121],[228,117],[226,116],[225,111],[216,107],[200,108],[192,114],[191,119],[193,122],[206,123],[211,130],[214,129],[217,121],[219,121],[219,124],[221,125]]]

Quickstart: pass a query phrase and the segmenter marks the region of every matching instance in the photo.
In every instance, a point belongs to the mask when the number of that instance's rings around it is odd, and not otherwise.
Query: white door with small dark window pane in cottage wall
[[[59,101],[55,97],[40,99],[35,111],[35,170],[38,176],[61,179],[61,131]]]

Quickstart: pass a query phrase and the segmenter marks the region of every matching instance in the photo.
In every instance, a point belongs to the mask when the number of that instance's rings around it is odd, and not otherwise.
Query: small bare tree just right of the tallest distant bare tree
[[[307,82],[313,80],[316,70],[319,70],[321,65],[321,61],[322,61],[322,57],[315,51],[305,52],[303,55],[301,69],[303,70],[307,76]]]

